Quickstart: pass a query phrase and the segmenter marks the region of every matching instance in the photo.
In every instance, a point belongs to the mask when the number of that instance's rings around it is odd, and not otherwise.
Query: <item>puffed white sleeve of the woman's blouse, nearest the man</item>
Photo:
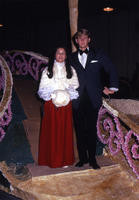
[[[79,87],[79,81],[78,81],[78,77],[77,77],[77,73],[75,71],[75,69],[73,67],[72,68],[72,78],[71,79],[68,79],[68,93],[70,94],[70,99],[73,100],[73,99],[77,99],[79,97],[79,93],[78,91],[76,90],[78,87]]]

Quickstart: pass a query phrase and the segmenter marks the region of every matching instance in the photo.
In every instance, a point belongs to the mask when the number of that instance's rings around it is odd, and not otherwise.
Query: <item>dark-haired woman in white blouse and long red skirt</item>
[[[71,100],[78,98],[79,83],[69,65],[66,50],[56,49],[55,58],[42,72],[38,94],[45,101],[38,164],[52,168],[74,163]]]

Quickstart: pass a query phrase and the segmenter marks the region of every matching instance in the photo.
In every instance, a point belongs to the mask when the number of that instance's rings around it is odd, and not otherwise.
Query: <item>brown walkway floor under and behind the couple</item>
[[[41,101],[37,98],[38,82],[32,79],[22,79],[22,80],[17,79],[14,80],[14,87],[22,103],[25,114],[27,115],[27,119],[24,120],[23,124],[31,146],[31,152],[35,160],[34,164],[28,164],[28,169],[30,170],[32,177],[89,169],[90,167],[88,164],[84,165],[84,167],[81,168],[69,166],[68,168],[57,168],[57,169],[52,169],[47,166],[37,165],[38,141],[39,141],[39,130],[41,121],[41,115],[40,115]],[[78,154],[76,149],[75,138],[74,138],[74,149],[75,149],[75,160],[77,161]],[[101,166],[101,168],[114,164],[106,156],[105,157],[98,156],[97,162]]]

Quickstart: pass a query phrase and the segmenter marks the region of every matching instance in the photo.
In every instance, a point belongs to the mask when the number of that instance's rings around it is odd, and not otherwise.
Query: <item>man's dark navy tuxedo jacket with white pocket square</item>
[[[102,50],[89,50],[85,68],[79,62],[78,51],[72,53],[69,59],[79,80],[79,98],[73,100],[73,108],[78,108],[80,97],[86,88],[93,108],[99,109],[102,104],[104,72],[109,78],[109,85],[105,86],[118,88],[118,75],[115,66]]]

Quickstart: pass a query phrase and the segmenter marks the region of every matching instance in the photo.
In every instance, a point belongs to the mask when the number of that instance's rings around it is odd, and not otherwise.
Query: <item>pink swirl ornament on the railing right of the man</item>
[[[120,152],[124,154],[139,179],[139,135],[133,130],[123,129],[120,119],[103,106],[98,113],[97,134],[100,141],[108,145],[113,157]]]

